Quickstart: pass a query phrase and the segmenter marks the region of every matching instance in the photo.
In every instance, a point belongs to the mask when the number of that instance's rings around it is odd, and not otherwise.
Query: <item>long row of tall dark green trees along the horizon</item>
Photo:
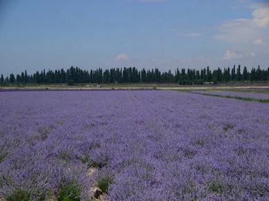
[[[246,66],[241,70],[241,66],[235,65],[225,67],[223,70],[210,70],[210,67],[201,70],[177,68],[174,73],[171,70],[161,72],[158,68],[152,70],[138,70],[136,67],[110,68],[102,70],[82,70],[79,67],[70,67],[68,70],[42,70],[34,74],[28,74],[26,71],[21,74],[10,74],[4,78],[0,77],[0,84],[54,84],[68,83],[69,85],[77,83],[179,83],[203,84],[206,82],[225,83],[230,81],[269,81],[269,67],[261,70],[258,66],[253,67],[248,72]]]

